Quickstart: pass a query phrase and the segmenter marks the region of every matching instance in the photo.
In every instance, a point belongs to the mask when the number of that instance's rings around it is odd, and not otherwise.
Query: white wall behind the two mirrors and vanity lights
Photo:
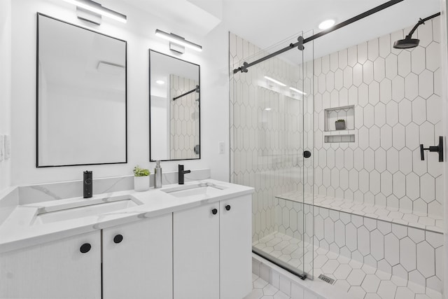
[[[168,42],[155,37],[156,28],[175,32],[200,43],[204,50],[187,50],[179,56],[201,65],[202,159],[183,161],[186,169],[211,168],[214,179],[228,181],[229,154],[218,154],[218,141],[228,146],[228,32],[218,25],[207,36],[195,36],[181,27],[172,27],[157,16],[132,8],[119,0],[105,6],[127,15],[127,24],[104,18],[101,26],[76,18],[75,7],[59,0],[21,0],[12,4],[12,135],[14,137],[13,185],[80,179],[90,169],[94,177],[132,173],[134,165],[153,169],[149,161],[148,49],[174,55]],[[3,0],[2,0],[3,4]],[[3,12],[3,9],[1,9]],[[50,167],[36,169],[36,13],[44,13],[75,25],[89,27],[127,41],[128,162],[120,165]],[[2,43],[3,44],[3,43]],[[179,162],[163,162],[164,172],[177,169]],[[182,163],[182,162],[181,162]]]

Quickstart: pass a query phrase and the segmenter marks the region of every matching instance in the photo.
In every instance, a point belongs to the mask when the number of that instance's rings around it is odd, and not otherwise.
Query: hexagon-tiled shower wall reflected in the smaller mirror
[[[196,88],[199,83],[193,79],[169,75],[170,99]],[[169,142],[170,157],[174,160],[198,158],[195,146],[199,144],[199,94],[197,92],[170,102]]]

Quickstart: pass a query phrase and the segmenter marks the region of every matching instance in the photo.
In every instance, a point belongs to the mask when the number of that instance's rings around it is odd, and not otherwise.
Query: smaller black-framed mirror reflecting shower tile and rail
[[[150,160],[200,159],[200,66],[154,50],[149,65]]]

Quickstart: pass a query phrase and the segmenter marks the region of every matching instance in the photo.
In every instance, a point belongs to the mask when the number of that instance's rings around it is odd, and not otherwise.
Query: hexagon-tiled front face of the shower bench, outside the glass
[[[323,207],[314,209],[315,246],[442,291],[441,233]],[[314,260],[314,265],[321,267],[322,262]]]

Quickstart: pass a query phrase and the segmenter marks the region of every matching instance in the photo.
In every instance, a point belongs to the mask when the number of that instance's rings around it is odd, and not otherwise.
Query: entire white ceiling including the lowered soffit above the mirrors
[[[319,32],[329,18],[337,23],[363,13],[386,0],[123,0],[162,16],[174,26],[207,38],[223,23],[230,32],[270,52],[295,42],[302,31]],[[412,27],[419,18],[440,11],[440,0],[404,0],[384,11],[327,34],[314,41],[314,57]],[[309,48],[308,48],[309,49]],[[305,51],[306,52],[306,51]],[[283,57],[297,61],[297,52]]]

